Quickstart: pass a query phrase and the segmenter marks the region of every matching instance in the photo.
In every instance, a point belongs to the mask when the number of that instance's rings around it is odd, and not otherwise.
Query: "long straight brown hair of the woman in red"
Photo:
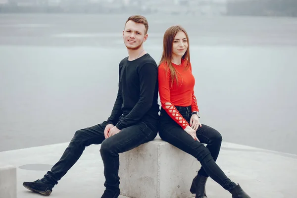
[[[171,60],[172,60],[173,40],[174,40],[175,35],[180,31],[183,31],[187,37],[188,49],[185,52],[185,54],[183,55],[182,59],[184,61],[186,61],[185,69],[188,69],[190,67],[190,49],[189,49],[190,45],[189,45],[189,37],[188,37],[186,30],[179,25],[171,26],[166,30],[166,32],[164,33],[164,37],[163,37],[163,53],[162,53],[162,57],[161,57],[159,64],[164,62],[165,65],[167,65],[166,69],[170,70],[171,86],[173,85],[173,82],[175,80],[176,80],[176,82],[178,81],[177,71],[174,68],[174,66],[172,65]]]

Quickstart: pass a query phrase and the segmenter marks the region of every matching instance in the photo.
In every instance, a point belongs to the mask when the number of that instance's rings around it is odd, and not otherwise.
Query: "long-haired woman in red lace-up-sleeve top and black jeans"
[[[229,191],[232,198],[250,198],[215,163],[222,137],[215,129],[199,122],[189,38],[185,29],[180,26],[172,26],[164,34],[158,82],[162,107],[159,118],[160,137],[193,155],[202,166],[193,179],[191,193],[196,194],[196,198],[207,198],[205,183],[210,176]],[[207,147],[203,144],[207,144]]]

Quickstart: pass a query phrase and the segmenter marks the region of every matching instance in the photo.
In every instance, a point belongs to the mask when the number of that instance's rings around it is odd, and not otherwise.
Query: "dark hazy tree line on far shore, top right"
[[[231,0],[227,15],[297,17],[297,0]]]

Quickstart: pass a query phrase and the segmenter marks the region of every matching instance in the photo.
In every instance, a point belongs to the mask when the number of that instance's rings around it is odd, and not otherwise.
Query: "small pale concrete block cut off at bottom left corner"
[[[0,166],[0,198],[16,198],[16,167]]]

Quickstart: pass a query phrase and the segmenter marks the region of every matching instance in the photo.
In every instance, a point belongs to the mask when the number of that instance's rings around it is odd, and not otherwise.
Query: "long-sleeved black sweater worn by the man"
[[[144,121],[152,131],[157,131],[158,66],[154,59],[148,53],[133,61],[124,58],[119,64],[118,86],[107,124],[122,130]]]

